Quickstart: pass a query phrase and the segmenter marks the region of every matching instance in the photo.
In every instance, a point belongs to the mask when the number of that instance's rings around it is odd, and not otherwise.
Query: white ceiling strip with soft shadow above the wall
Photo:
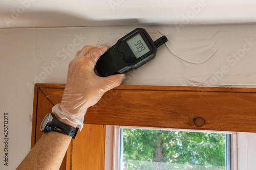
[[[254,0],[1,0],[0,2],[0,28],[245,22],[256,22]]]

